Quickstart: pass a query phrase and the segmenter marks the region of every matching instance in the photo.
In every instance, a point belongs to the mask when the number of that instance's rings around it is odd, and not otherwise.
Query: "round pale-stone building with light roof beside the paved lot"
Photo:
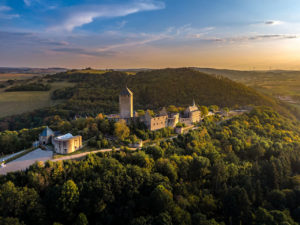
[[[82,137],[68,133],[53,138],[54,151],[58,154],[69,154],[82,148]]]

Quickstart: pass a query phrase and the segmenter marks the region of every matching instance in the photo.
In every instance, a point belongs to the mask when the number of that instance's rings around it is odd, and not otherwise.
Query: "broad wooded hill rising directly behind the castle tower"
[[[76,111],[117,111],[118,94],[126,84],[134,93],[135,109],[186,106],[193,99],[201,105],[215,104],[221,107],[277,105],[273,98],[243,84],[188,68],[149,70],[136,75],[118,71],[99,75],[78,71],[72,74],[60,73],[51,78],[78,83],[73,97],[67,103],[69,109],[75,107]],[[80,107],[81,104],[85,107]],[[93,107],[88,107],[88,104]]]

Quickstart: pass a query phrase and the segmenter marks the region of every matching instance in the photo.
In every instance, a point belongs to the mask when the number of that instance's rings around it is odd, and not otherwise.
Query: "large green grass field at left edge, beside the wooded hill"
[[[56,89],[73,85],[67,82],[51,83],[50,91],[32,92],[4,92],[0,89],[0,118],[61,103],[61,101],[51,100],[51,93]]]

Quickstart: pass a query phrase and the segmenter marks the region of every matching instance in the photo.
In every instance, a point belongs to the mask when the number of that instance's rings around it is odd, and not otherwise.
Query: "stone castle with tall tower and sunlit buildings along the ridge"
[[[112,120],[130,120],[139,119],[143,122],[147,128],[151,131],[159,130],[166,127],[176,127],[178,123],[182,123],[186,126],[191,126],[194,123],[201,121],[201,112],[198,109],[195,101],[193,105],[187,107],[181,115],[180,113],[168,113],[163,108],[158,115],[151,115],[149,110],[146,111],[144,116],[138,116],[133,111],[133,93],[126,86],[119,95],[119,110],[120,114],[109,115],[108,118]]]

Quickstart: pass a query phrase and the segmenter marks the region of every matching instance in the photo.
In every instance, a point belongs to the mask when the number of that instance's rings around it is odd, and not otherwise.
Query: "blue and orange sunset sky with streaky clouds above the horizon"
[[[300,69],[299,0],[0,0],[0,66]]]

